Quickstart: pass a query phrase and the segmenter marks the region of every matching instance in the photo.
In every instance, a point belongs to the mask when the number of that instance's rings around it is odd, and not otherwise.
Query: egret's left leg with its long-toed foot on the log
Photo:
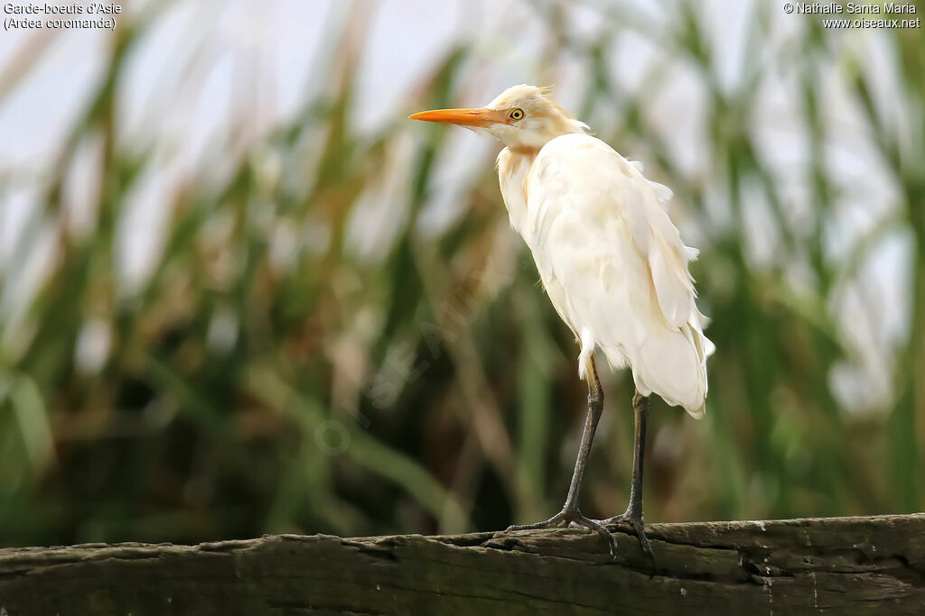
[[[611,554],[617,555],[617,544],[610,531],[595,520],[591,520],[581,513],[578,508],[578,494],[581,491],[582,478],[585,477],[585,466],[587,464],[588,454],[591,453],[591,443],[594,441],[594,433],[598,429],[601,412],[604,410],[604,390],[598,380],[598,370],[594,365],[594,358],[591,358],[590,366],[587,371],[587,417],[585,419],[585,430],[581,436],[581,446],[578,448],[578,457],[575,459],[575,469],[572,474],[572,483],[569,485],[569,493],[565,497],[565,504],[562,510],[556,513],[549,520],[537,522],[536,524],[512,525],[508,530],[529,530],[535,528],[551,528],[555,526],[579,525],[596,531],[601,537],[604,537]]]

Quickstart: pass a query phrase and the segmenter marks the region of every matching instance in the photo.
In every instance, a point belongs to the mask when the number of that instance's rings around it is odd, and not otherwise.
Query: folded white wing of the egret
[[[524,238],[582,356],[598,346],[612,366],[630,364],[641,393],[702,415],[712,344],[687,270],[697,251],[660,202],[671,191],[577,134],[543,147],[524,188]]]

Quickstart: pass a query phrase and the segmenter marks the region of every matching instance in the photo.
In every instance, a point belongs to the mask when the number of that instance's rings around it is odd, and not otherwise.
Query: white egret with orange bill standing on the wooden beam
[[[549,88],[516,85],[485,107],[437,109],[409,116],[452,124],[499,139],[501,198],[512,227],[533,255],[546,294],[578,343],[578,377],[588,387],[587,414],[572,481],[559,513],[509,531],[584,526],[618,557],[608,525],[628,524],[652,559],[643,527],[642,477],[649,397],[704,416],[707,357],[685,246],[666,211],[672,190],[643,175],[589,127],[549,98]],[[604,391],[595,365],[630,368],[635,384],[633,471],[626,511],[603,520],[579,507],[582,480]]]

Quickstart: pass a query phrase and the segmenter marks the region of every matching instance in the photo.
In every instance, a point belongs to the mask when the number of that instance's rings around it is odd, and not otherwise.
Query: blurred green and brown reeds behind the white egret
[[[584,109],[575,111],[615,117],[600,137],[620,151],[648,152],[649,175],[683,204],[672,215],[682,212],[703,239],[694,274],[719,349],[709,367],[708,416],[697,423],[655,406],[648,520],[921,509],[921,32],[890,38],[904,103],[918,114],[911,138],[884,123],[889,112],[870,72],[840,60],[831,32],[810,25],[783,50],[802,92],[810,157],[799,173],[814,205],[795,223],[749,124],[761,109],[760,91],[749,85],[762,70],[760,54],[746,56],[744,83],[730,91],[720,86],[694,2],[677,3],[669,32],[646,31],[614,10],[597,40],[563,30],[557,6],[543,12],[544,53],[579,58],[593,76]],[[756,40],[772,9],[759,9]],[[117,139],[117,97],[126,58],[152,23],[117,30],[105,79],[50,162],[41,211],[0,273],[8,295],[11,272],[43,233],[53,234],[50,274],[24,316],[4,324],[0,543],[456,532],[557,510],[586,393],[573,341],[536,284],[529,255],[513,248],[490,157],[464,197],[462,219],[440,236],[422,234],[428,178],[447,147],[445,130],[422,129],[410,165],[395,171],[405,174],[407,190],[385,197],[398,199],[402,212],[394,241],[381,258],[351,249],[351,224],[364,215],[357,204],[396,169],[408,130],[403,115],[372,137],[351,126],[351,27],[332,39],[329,73],[319,76],[329,87],[305,100],[290,126],[248,144],[220,179],[191,175],[166,196],[171,214],[154,271],[141,288],[120,286],[118,221],[154,153]],[[709,178],[685,175],[648,122],[666,76],[653,69],[635,93],[613,82],[603,52],[629,31],[696,67],[709,109],[702,153]],[[37,43],[23,54],[41,49]],[[473,54],[462,46],[443,58],[409,111],[459,103]],[[30,57],[18,61],[18,74],[32,69]],[[818,75],[833,66],[851,75],[898,199],[895,215],[845,260],[824,250],[838,195]],[[16,83],[0,86],[8,96]],[[229,127],[229,149],[246,122]],[[88,147],[99,148],[101,163],[93,228],[81,235],[69,231],[62,202],[68,169]],[[0,175],[0,191],[11,179]],[[745,229],[756,198],[769,214],[763,232],[778,243],[777,258],[760,267]],[[709,199],[728,204],[731,223],[715,223]],[[908,335],[888,367],[894,400],[877,412],[847,413],[831,376],[857,351],[832,304],[869,251],[897,233],[911,237],[914,256]],[[794,282],[795,269],[808,284]],[[876,308],[876,297],[868,299]],[[623,375],[608,385],[586,484],[586,512],[594,515],[623,511],[629,486],[632,381]]]

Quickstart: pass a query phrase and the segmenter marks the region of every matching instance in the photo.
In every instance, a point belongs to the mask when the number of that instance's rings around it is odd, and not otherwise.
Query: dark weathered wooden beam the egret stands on
[[[0,616],[925,613],[922,513],[618,530],[6,549]]]

